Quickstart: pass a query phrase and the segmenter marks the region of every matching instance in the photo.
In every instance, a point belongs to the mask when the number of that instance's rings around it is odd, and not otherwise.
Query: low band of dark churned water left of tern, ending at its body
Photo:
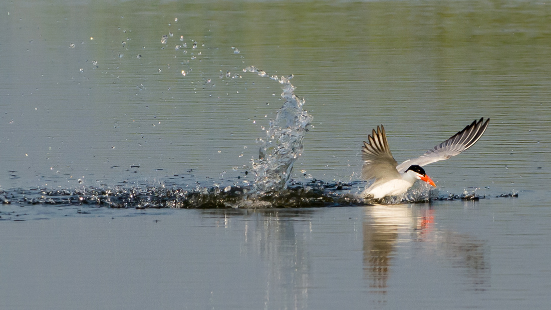
[[[213,208],[255,208],[259,206],[278,208],[313,208],[342,205],[360,205],[350,190],[352,184],[294,183],[285,191],[270,193],[253,200],[245,200],[251,187],[180,187],[163,186],[116,186],[81,187],[77,189],[14,189],[4,192],[0,189],[0,202],[3,205],[73,205],[106,206],[108,208],[135,209],[213,209]],[[29,210],[23,210],[28,213]],[[6,218],[6,210],[0,210],[0,219]]]

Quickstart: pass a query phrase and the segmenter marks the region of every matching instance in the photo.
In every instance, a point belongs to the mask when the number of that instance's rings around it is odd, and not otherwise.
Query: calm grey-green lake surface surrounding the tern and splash
[[[551,4],[525,1],[0,4],[0,308],[547,307],[550,24]],[[359,193],[377,125],[400,162],[489,117],[473,148],[425,167],[436,195],[480,199],[51,194],[250,186],[283,100],[248,66],[293,74],[313,116],[293,182]]]

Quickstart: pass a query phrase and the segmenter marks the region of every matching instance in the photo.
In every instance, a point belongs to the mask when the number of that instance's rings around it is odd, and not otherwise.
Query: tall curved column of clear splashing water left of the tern
[[[257,73],[282,85],[281,97],[284,104],[277,110],[276,119],[270,120],[266,138],[258,152],[258,160],[252,161],[252,170],[255,173],[253,192],[279,192],[287,188],[293,164],[302,153],[302,138],[308,131],[312,116],[302,110],[304,99],[293,94],[295,86],[289,82],[292,75],[278,78],[277,75],[270,76],[253,66],[243,71]]]

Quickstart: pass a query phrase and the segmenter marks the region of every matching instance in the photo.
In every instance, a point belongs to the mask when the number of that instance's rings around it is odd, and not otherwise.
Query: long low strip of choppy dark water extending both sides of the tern
[[[80,187],[76,189],[0,189],[0,221],[42,219],[45,211],[34,206],[63,206],[47,211],[48,216],[66,216],[70,210],[74,214],[90,214],[96,216],[109,211],[98,208],[115,209],[228,209],[228,208],[326,208],[334,206],[358,206],[376,204],[419,203],[436,200],[479,200],[489,199],[491,195],[448,194],[436,195],[431,191],[430,198],[412,201],[413,197],[404,200],[371,202],[358,197],[355,188],[363,185],[362,181],[350,183],[326,183],[310,181],[308,183],[290,183],[281,192],[257,195],[253,199],[245,199],[251,187],[228,186],[196,187],[185,189],[180,187],[165,188],[163,186],[115,186],[115,187]],[[516,198],[518,193],[501,194],[497,197]],[[418,197],[419,198],[419,197]],[[397,198],[396,198],[397,199]],[[71,207],[75,209],[71,209]],[[56,211],[57,210],[57,211]],[[92,212],[93,211],[93,212]]]

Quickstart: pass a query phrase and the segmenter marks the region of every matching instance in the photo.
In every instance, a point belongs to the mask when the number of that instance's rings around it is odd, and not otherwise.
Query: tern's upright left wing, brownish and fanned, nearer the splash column
[[[377,131],[368,135],[368,142],[364,141],[361,148],[361,159],[364,166],[361,167],[361,178],[363,180],[384,181],[399,178],[396,170],[398,164],[388,148],[386,141],[385,127],[377,126]]]

